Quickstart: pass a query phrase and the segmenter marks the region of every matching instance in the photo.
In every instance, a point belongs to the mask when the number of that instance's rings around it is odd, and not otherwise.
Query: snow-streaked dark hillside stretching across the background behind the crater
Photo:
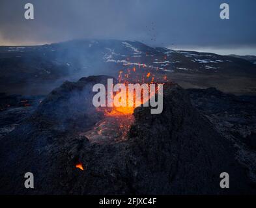
[[[214,86],[226,92],[256,92],[256,65],[251,61],[122,40],[1,46],[0,91],[47,94],[66,79],[101,74],[117,77],[120,70],[129,68],[140,68],[141,73],[151,72],[155,77],[165,75],[184,88]]]

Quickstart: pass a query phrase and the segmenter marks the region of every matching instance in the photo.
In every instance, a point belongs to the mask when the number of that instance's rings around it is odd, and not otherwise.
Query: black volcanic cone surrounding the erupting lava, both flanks
[[[64,83],[1,139],[1,194],[255,193],[234,147],[177,85],[165,85],[162,114],[135,109],[128,140],[92,144],[81,136],[102,118],[84,95],[106,78]],[[33,172],[34,189],[23,187],[25,172]],[[229,173],[231,188],[220,188],[221,172]]]

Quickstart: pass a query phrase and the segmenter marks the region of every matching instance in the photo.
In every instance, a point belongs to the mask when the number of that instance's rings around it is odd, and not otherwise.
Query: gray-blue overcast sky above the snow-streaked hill
[[[35,19],[24,18],[25,3]],[[220,19],[221,3],[230,19]],[[115,38],[256,55],[255,10],[255,0],[0,0],[0,45]]]

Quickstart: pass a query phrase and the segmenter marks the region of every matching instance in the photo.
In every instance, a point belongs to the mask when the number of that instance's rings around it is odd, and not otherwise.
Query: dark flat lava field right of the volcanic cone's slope
[[[256,183],[256,97],[235,96],[216,90],[188,89],[192,104],[236,149],[236,160]]]

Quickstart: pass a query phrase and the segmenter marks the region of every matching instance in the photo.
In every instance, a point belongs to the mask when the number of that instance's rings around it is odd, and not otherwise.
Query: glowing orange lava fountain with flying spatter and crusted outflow
[[[141,66],[144,67],[145,64],[141,64]],[[154,83],[163,83],[163,80],[167,81],[167,77],[165,76],[164,79],[163,77],[158,77],[156,79],[152,72],[146,72],[144,68],[140,68],[140,65],[137,69],[134,67],[132,69],[120,70],[118,81],[126,86],[126,90],[114,92],[112,96],[113,101],[116,99],[119,103],[122,102],[121,98],[126,98],[126,104],[115,106],[114,102],[113,107],[98,107],[98,111],[104,112],[104,119],[96,123],[93,129],[81,133],[81,135],[86,136],[90,142],[97,144],[126,140],[130,127],[134,123],[134,109],[149,101],[150,97],[154,95],[149,93],[149,96],[145,98],[143,90],[141,90],[140,94],[138,93],[139,95],[135,93],[135,90],[133,94],[130,94],[128,85],[132,83],[144,83],[149,86]],[[155,89],[155,92],[157,91],[158,89]]]

